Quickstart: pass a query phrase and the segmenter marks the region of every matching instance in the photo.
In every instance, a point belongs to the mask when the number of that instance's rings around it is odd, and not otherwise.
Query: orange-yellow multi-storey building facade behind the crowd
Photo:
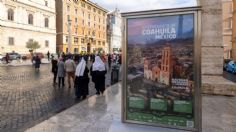
[[[106,9],[88,0],[58,0],[56,12],[58,52],[108,52]]]

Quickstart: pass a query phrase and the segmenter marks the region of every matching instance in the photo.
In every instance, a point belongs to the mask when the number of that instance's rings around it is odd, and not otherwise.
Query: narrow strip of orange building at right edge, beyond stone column
[[[223,0],[223,45],[224,58],[232,58],[232,28],[233,28],[233,2],[232,0]]]

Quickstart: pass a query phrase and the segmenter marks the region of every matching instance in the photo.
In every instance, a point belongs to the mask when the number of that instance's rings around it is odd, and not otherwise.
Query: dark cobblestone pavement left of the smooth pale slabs
[[[0,132],[24,131],[79,103],[67,84],[53,86],[50,69],[48,64],[39,72],[32,66],[0,67]],[[89,94],[95,94],[94,84],[89,85]]]

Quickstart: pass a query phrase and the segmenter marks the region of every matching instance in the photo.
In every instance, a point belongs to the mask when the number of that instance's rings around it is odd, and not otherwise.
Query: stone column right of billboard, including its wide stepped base
[[[235,83],[223,75],[221,0],[199,0],[202,6],[202,91],[207,94],[236,95]]]

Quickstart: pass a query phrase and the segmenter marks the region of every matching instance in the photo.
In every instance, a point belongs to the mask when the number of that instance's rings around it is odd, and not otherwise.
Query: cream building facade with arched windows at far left
[[[55,0],[0,0],[0,52],[28,54],[30,40],[55,53]]]

